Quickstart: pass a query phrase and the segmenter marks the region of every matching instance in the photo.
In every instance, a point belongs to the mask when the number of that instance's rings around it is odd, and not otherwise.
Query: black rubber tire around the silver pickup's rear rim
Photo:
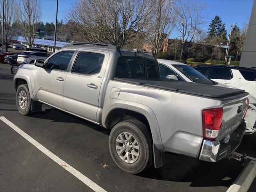
[[[138,159],[133,163],[124,162],[116,151],[116,139],[122,132],[128,132],[136,138],[139,145]],[[152,164],[152,141],[146,125],[138,120],[125,120],[112,128],[109,136],[110,154],[116,165],[130,174],[138,174]]]

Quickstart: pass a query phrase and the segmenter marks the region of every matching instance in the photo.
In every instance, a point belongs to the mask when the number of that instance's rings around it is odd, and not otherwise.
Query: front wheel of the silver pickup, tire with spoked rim
[[[19,96],[21,96],[22,98],[22,103],[24,105],[20,106],[19,103]],[[25,100],[26,98],[26,100]],[[32,114],[32,110],[31,110],[31,99],[30,99],[30,94],[29,94],[29,90],[28,90],[28,84],[21,84],[16,92],[16,105],[17,108],[20,112],[20,114],[22,115],[30,115]]]

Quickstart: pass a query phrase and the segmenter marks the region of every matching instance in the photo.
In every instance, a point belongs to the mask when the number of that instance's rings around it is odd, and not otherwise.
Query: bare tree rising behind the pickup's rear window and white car
[[[153,0],[153,16],[147,25],[146,40],[154,54],[162,48],[164,40],[169,37],[175,26],[174,0]]]

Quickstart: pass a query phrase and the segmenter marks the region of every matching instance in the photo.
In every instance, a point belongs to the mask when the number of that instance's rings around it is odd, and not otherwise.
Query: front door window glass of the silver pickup
[[[46,69],[67,70],[68,64],[74,54],[74,51],[62,51],[52,56],[47,63]]]

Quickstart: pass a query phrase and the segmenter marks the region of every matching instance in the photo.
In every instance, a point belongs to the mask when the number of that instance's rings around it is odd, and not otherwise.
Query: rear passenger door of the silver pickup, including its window
[[[109,53],[80,51],[64,84],[64,109],[96,121],[100,88]],[[102,67],[103,66],[103,67]]]

